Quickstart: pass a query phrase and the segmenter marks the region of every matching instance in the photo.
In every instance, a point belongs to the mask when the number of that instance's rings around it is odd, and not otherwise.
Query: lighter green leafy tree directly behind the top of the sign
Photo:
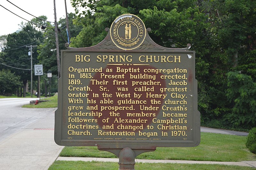
[[[203,11],[203,4],[198,1],[88,1],[73,0],[76,7],[87,7],[87,11],[80,13],[75,24],[83,25],[82,31],[72,39],[73,47],[88,47],[96,45],[106,36],[105,27],[110,27],[113,20],[124,13],[132,13],[139,16],[146,27],[151,27],[150,37],[159,45],[165,47],[184,48],[187,43],[192,44],[196,53],[196,78],[199,82],[199,110],[203,115],[212,113],[214,102],[210,93],[213,80],[216,78],[211,72],[212,62],[218,63],[216,58],[211,58],[214,50],[209,48],[217,46],[212,38],[211,23],[208,15]],[[79,13],[79,11],[77,11]],[[220,66],[221,64],[219,64]],[[216,68],[216,66],[215,66]],[[219,69],[221,72],[221,68]],[[225,75],[226,72],[221,73]],[[210,84],[210,86],[209,86]],[[225,96],[223,93],[222,96]],[[213,95],[215,96],[215,94]],[[218,100],[215,100],[218,101]],[[204,116],[207,117],[207,116]]]

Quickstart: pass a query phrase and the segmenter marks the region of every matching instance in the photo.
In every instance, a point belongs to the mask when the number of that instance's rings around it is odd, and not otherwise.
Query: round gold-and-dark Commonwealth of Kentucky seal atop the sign
[[[117,17],[110,27],[111,40],[123,50],[132,50],[140,46],[146,37],[143,21],[133,14]]]

